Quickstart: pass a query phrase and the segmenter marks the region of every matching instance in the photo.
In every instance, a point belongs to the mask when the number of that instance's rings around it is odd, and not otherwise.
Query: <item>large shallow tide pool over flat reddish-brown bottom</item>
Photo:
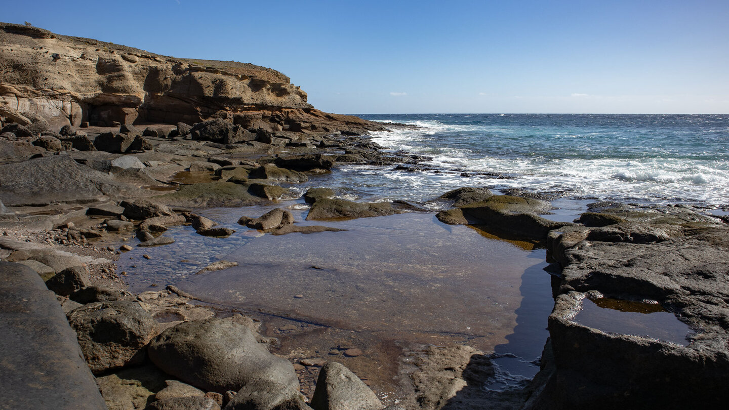
[[[208,216],[235,219],[221,210]],[[544,250],[445,225],[432,213],[300,224],[347,231],[253,237],[238,226],[245,244],[216,257],[238,266],[170,282],[259,315],[262,333],[280,340],[278,355],[337,360],[381,397],[402,394],[400,364],[421,344],[468,344],[517,355],[512,371],[520,374],[538,370],[529,362],[542,352],[553,306]],[[362,354],[348,357],[348,349]],[[313,386],[303,388],[311,394]]]

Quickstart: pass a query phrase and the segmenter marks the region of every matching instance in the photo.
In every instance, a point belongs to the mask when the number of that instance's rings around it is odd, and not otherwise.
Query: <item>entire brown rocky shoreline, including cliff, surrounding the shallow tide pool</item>
[[[63,396],[56,408],[69,409],[670,409],[726,401],[729,228],[684,206],[592,204],[574,223],[555,223],[544,217],[550,204],[529,196],[461,187],[434,198],[445,208],[441,222],[542,244],[559,272],[542,370],[506,392],[483,388],[495,372],[490,352],[431,345],[391,364],[405,388],[397,402],[381,401],[336,360],[362,355],[356,344],[332,347],[335,360],[291,363],[268,351],[277,341],[262,336],[251,317],[174,286],[129,293],[127,273],[114,260],[132,249],[125,241],[133,236],[139,247],[163,247],[174,241],[165,231],[179,224],[202,236],[230,236],[231,228],[195,212],[294,198],[292,186],[338,164],[416,167],[426,158],[382,150],[366,136],[381,124],[313,109],[277,71],[198,66],[38,28],[1,28],[0,61],[20,67],[0,77],[1,289],[20,295],[5,298],[6,330],[23,336],[43,314],[54,319],[42,326],[65,335],[0,338],[5,351],[24,349],[27,360],[3,365],[9,406],[40,408],[49,395]],[[39,82],[38,72],[52,70],[32,71],[32,61],[66,68]],[[93,73],[84,71],[90,67]],[[95,80],[71,84],[89,77]],[[426,212],[402,201],[348,201],[328,187],[311,188],[304,199],[306,220],[323,225],[301,225],[281,208],[241,211],[238,224],[316,235],[338,229],[327,221]],[[230,266],[219,261],[202,271]],[[693,332],[684,346],[580,324],[585,303],[601,300],[660,306]],[[12,316],[41,304],[43,313]],[[63,357],[80,352],[85,365],[28,358],[49,349]],[[85,382],[65,392],[27,376],[47,371],[63,379],[71,368]],[[94,382],[99,397],[90,395]],[[71,395],[74,388],[80,396]]]

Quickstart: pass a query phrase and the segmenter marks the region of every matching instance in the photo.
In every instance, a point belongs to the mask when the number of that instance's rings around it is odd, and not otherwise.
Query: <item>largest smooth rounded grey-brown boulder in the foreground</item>
[[[149,344],[149,358],[166,373],[206,391],[238,391],[260,381],[298,389],[291,363],[271,355],[249,328],[230,320],[168,328]]]

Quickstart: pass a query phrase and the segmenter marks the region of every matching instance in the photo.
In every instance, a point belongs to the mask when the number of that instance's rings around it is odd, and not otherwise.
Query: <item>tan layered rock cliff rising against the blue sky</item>
[[[246,128],[367,128],[356,117],[313,109],[273,69],[235,61],[172,58],[42,28],[0,23],[2,115],[39,115],[52,125],[198,123],[224,118]],[[316,128],[316,125],[314,125]],[[327,131],[320,129],[319,131]]]

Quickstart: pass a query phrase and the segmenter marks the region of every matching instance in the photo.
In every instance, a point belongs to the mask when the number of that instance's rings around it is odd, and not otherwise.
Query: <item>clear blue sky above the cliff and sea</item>
[[[729,113],[729,1],[4,1],[28,21],[291,77],[327,112]]]

